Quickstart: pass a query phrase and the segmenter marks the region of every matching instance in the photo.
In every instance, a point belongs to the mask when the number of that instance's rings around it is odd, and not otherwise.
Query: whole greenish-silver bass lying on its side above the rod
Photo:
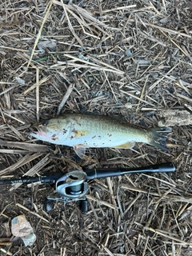
[[[63,114],[33,125],[34,138],[58,145],[72,146],[79,158],[87,148],[131,149],[136,142],[147,143],[167,151],[165,131],[134,128],[126,121],[95,114]],[[168,129],[168,131],[170,131]]]

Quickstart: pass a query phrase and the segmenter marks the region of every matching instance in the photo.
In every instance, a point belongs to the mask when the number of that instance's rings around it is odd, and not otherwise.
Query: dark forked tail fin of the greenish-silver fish
[[[156,148],[163,150],[163,151],[169,151],[166,148],[166,133],[171,132],[170,127],[161,127],[161,128],[154,128],[149,131],[150,134],[150,141],[148,144],[155,146]]]

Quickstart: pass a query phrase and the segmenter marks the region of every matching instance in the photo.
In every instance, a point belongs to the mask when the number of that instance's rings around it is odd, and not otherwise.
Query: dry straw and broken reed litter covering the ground
[[[94,166],[172,161],[174,174],[131,174],[91,182],[89,212],[43,202],[51,186],[1,188],[1,237],[18,214],[34,226],[31,248],[1,255],[179,256],[192,254],[191,127],[173,126],[170,153],[87,150],[30,138],[30,123],[66,112],[121,115],[157,126],[161,110],[188,110],[192,88],[190,0],[0,2],[0,174],[2,178]],[[9,191],[10,190],[10,191]],[[2,241],[4,241],[2,239]]]

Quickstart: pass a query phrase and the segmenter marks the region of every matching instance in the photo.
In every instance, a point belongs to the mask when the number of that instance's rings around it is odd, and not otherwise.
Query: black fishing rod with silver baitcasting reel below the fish
[[[69,173],[51,173],[44,174],[41,177],[22,177],[18,179],[0,180],[0,185],[15,183],[31,183],[40,182],[55,183],[57,195],[47,196],[46,211],[54,208],[54,201],[64,202],[80,202],[79,208],[82,212],[88,210],[88,202],[86,194],[89,190],[88,182],[95,178],[115,177],[125,174],[142,174],[142,173],[170,173],[174,172],[175,167],[171,162],[159,165],[144,166],[138,168],[94,168],[86,170],[72,170]]]

